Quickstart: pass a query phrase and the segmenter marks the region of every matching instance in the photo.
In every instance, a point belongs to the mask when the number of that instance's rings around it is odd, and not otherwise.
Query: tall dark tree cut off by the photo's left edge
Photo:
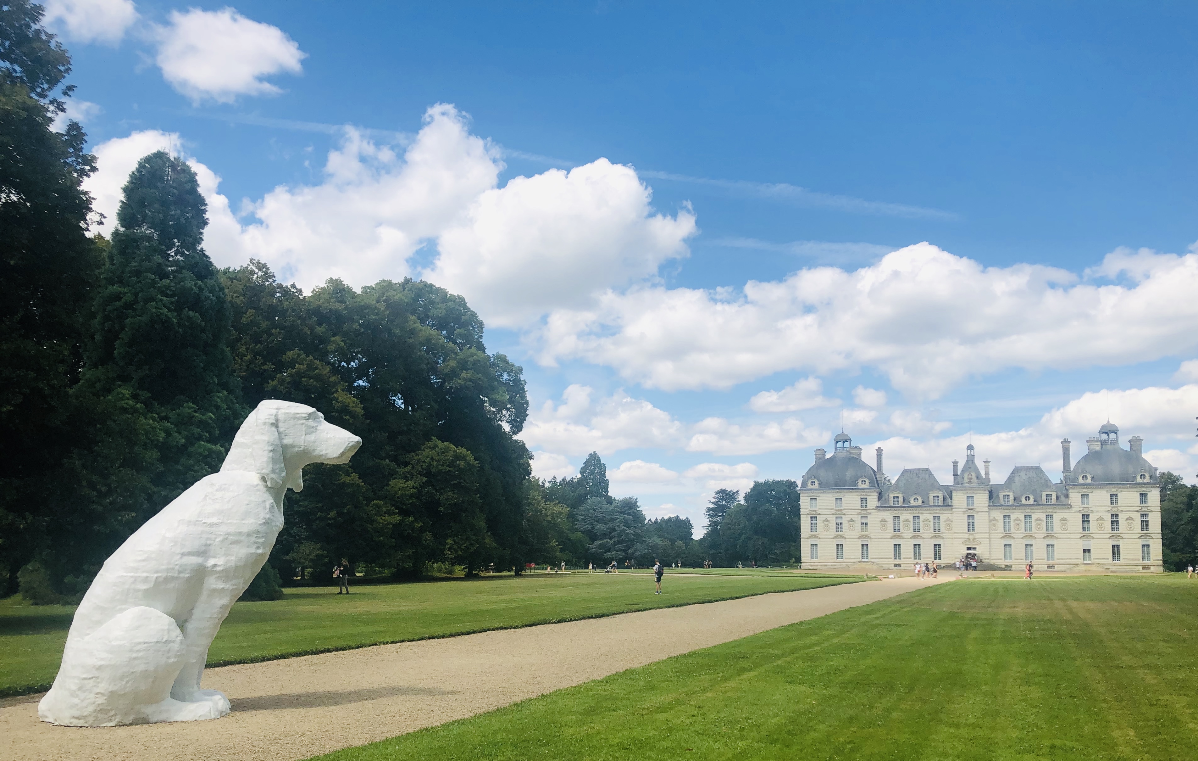
[[[69,391],[103,253],[87,237],[86,135],[73,120],[54,129],[71,58],[42,17],[28,0],[0,8],[0,594],[16,591],[55,520],[73,520],[63,464],[80,421]]]

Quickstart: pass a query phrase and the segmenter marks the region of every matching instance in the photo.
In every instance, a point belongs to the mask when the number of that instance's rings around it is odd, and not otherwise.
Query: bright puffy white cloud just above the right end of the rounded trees
[[[636,171],[605,158],[515,177],[483,193],[441,235],[425,277],[464,295],[495,325],[586,303],[597,290],[628,285],[686,255],[695,216],[654,215],[651,198]]]

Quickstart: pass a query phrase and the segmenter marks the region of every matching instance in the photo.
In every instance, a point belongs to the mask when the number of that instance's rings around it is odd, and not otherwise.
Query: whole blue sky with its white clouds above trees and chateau
[[[49,10],[102,211],[169,146],[218,264],[465,294],[541,475],[697,518],[843,423],[1057,477],[1108,410],[1194,472],[1193,5]]]

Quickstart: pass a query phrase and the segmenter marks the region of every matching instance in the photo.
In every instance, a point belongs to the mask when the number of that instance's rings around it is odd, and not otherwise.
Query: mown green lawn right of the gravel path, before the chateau
[[[326,761],[1192,759],[1198,582],[955,581]]]

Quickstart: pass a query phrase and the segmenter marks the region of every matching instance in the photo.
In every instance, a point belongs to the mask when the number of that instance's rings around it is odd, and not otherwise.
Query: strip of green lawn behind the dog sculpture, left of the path
[[[534,574],[288,590],[271,603],[237,603],[208,651],[208,664],[250,663],[382,642],[450,636],[553,621],[610,616],[807,590],[854,581],[827,576],[666,575],[665,594],[631,574]],[[0,695],[46,689],[54,681],[73,608],[0,600]]]

